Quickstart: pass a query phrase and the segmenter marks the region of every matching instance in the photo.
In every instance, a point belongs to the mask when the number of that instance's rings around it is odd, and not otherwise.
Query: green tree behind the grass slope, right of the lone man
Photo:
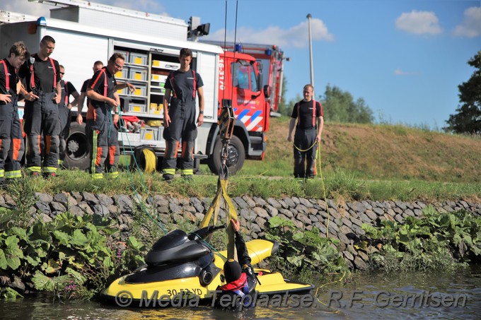
[[[362,97],[354,102],[354,98],[347,91],[336,86],[327,85],[324,96],[320,96],[323,104],[324,119],[330,122],[349,122],[371,124],[374,117],[371,108],[366,105]]]

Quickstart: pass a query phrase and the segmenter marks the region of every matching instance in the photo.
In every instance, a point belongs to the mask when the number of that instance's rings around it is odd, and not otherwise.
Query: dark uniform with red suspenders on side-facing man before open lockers
[[[89,89],[114,99],[115,77],[106,67],[95,72]],[[117,162],[120,157],[118,134],[113,124],[111,107],[106,102],[90,99],[87,111],[88,139],[91,144],[91,173],[93,179],[103,178],[103,166],[112,177],[117,177]]]

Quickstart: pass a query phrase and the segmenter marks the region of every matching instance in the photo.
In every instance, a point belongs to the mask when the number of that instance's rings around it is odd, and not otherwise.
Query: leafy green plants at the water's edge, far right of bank
[[[481,217],[467,211],[439,213],[423,210],[423,218],[404,223],[383,220],[380,227],[363,224],[374,268],[393,271],[452,271],[459,263],[481,261]]]

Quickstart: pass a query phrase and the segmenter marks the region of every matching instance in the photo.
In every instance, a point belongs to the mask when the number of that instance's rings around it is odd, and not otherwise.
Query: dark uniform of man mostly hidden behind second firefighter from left
[[[63,165],[65,159],[66,138],[69,138],[70,134],[70,109],[69,109],[69,97],[77,90],[74,85],[69,81],[60,81],[62,87],[62,99],[59,103],[59,120],[60,120],[60,135],[59,135],[59,166]]]

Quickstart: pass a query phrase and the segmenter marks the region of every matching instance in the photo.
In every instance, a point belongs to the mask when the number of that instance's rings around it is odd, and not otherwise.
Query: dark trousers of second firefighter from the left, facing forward
[[[25,102],[23,114],[25,134],[27,134],[27,170],[40,172],[42,170],[42,151],[40,137],[43,135],[45,152],[43,171],[54,173],[59,161],[59,107],[52,100],[55,93],[37,93],[38,99]]]

